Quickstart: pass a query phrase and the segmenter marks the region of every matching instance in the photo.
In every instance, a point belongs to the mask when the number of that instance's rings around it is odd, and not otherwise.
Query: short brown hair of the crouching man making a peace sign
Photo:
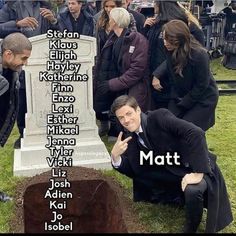
[[[114,100],[111,105],[111,111],[115,114],[117,110],[126,105],[134,108],[134,110],[136,110],[138,107],[138,103],[134,97],[122,95]]]

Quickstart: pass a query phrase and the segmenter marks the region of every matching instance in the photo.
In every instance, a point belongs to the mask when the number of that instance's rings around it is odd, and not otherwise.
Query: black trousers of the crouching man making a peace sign
[[[148,174],[151,178],[143,177],[133,179],[134,201],[185,206],[184,232],[196,232],[207,202],[206,181],[187,185],[183,192],[180,176],[161,170],[155,176]]]

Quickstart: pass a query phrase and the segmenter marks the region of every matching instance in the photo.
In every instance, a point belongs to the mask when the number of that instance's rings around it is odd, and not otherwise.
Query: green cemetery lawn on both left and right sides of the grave
[[[217,80],[236,79],[236,71],[222,67],[220,59],[212,61],[211,68]],[[216,110],[216,124],[207,132],[206,137],[209,149],[218,156],[217,163],[225,177],[233,216],[236,219],[236,94],[220,96]],[[0,191],[4,191],[13,197],[17,185],[23,180],[23,178],[13,177],[13,145],[17,138],[18,130],[15,126],[7,144],[4,148],[0,148]],[[103,141],[110,152],[112,144],[107,142],[107,137],[103,137]],[[103,173],[108,176],[115,176],[117,181],[126,189],[127,196],[132,199],[132,182],[129,178],[114,170],[103,171]],[[10,219],[14,215],[14,206],[14,201],[0,202],[0,233],[10,233]],[[147,225],[149,232],[181,232],[184,222],[183,209],[148,203],[134,203],[134,207],[140,221]],[[206,213],[204,212],[199,232],[204,232],[205,219]],[[222,230],[222,233],[236,233],[236,221]]]

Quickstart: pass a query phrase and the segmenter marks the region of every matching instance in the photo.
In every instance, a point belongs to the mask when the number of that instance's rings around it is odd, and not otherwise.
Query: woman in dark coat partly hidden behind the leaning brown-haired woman
[[[150,74],[166,59],[166,51],[162,37],[162,27],[171,20],[185,22],[191,34],[203,45],[204,33],[198,20],[177,1],[155,0],[156,17],[147,18],[144,24],[144,35],[149,41]],[[169,101],[170,86],[167,78],[162,81],[162,91],[152,89],[153,109],[167,107]]]

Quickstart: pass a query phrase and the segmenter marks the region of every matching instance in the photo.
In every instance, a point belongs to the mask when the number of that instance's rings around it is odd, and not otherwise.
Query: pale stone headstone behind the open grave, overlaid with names
[[[31,38],[33,50],[28,64],[24,68],[26,72],[27,93],[26,127],[24,129],[24,138],[21,139],[21,149],[16,149],[14,153],[14,175],[33,176],[50,169],[46,159],[50,157],[50,149],[45,147],[45,145],[50,143],[50,137],[56,140],[60,138],[66,138],[70,141],[75,140],[75,146],[64,146],[65,149],[73,148],[74,150],[71,156],[73,166],[110,169],[110,156],[104,143],[98,136],[98,127],[93,110],[92,66],[94,65],[94,56],[96,54],[96,39],[88,36],[80,36],[79,39],[60,39],[61,42],[71,42],[73,45],[78,45],[78,48],[72,50],[77,55],[76,60],[65,60],[63,62],[51,59],[54,57],[50,55],[49,52],[49,40],[54,40],[54,38],[49,39],[46,34]],[[52,50],[57,51],[57,53],[70,52],[70,49],[55,50],[55,48],[53,48]],[[76,68],[72,69],[72,67],[68,67],[62,73],[62,69],[51,70],[50,68],[50,70],[47,70],[47,66],[51,65],[51,63],[67,64],[67,66],[69,64],[80,64],[81,66],[78,66],[79,70],[77,71]],[[46,77],[45,73],[53,76],[53,74],[60,72],[63,75],[75,73],[75,75],[78,76],[79,74],[81,77],[84,76],[83,78],[88,76],[88,80],[85,82],[55,81],[53,77],[54,81],[46,81],[49,80],[50,77]],[[54,89],[52,89],[53,83]],[[55,85],[55,83],[59,83],[60,87]],[[74,96],[75,101],[54,102],[54,105],[52,105],[52,93],[57,93],[57,91],[63,87],[62,85],[69,85],[67,88],[72,85],[73,91],[58,92],[58,94]],[[54,106],[54,108],[52,106]],[[48,115],[52,114],[53,109],[54,111],[58,110],[61,106],[67,106],[68,109],[66,109],[65,112],[63,111],[53,115],[57,117],[64,114],[67,118],[78,117],[76,124],[48,124]],[[72,113],[68,113],[69,111],[71,112],[72,108]],[[63,128],[75,128],[79,126],[79,134],[48,135],[47,125],[51,127],[61,125]],[[61,145],[56,145],[55,147],[59,149],[60,146]]]

